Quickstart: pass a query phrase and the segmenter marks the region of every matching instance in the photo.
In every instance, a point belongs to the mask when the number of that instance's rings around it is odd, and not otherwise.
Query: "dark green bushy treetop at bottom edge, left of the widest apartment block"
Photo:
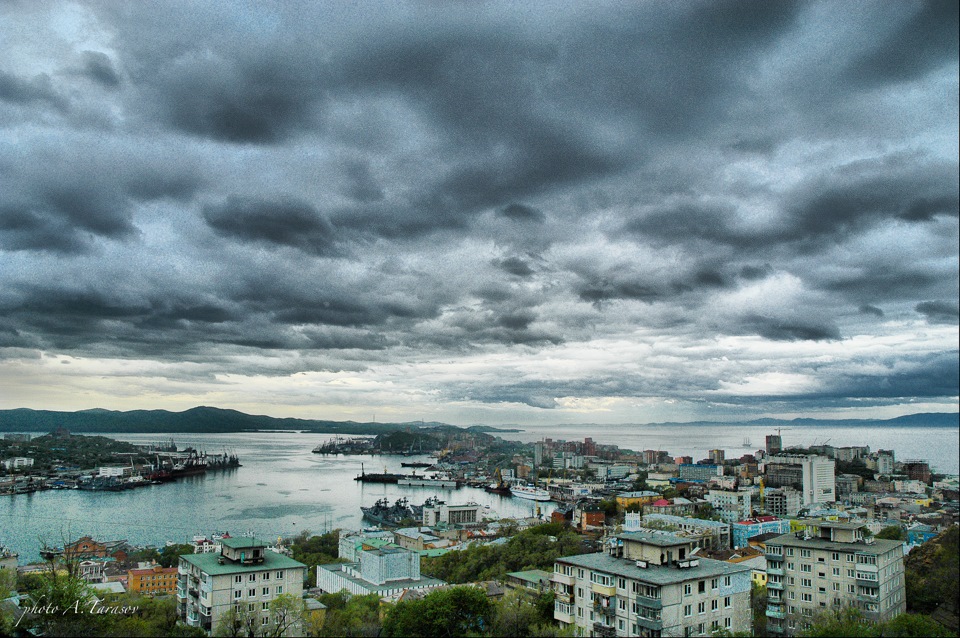
[[[421,600],[397,603],[383,621],[386,636],[453,638],[490,625],[493,607],[476,587],[437,589]]]

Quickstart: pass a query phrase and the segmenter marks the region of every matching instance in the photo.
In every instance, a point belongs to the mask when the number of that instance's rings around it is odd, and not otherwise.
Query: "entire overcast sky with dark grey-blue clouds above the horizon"
[[[958,401],[957,2],[0,2],[0,407]]]

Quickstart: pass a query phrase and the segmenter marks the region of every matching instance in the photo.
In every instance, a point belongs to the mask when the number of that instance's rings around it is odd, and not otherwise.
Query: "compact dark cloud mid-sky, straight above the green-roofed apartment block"
[[[205,207],[203,217],[225,237],[290,246],[316,255],[335,252],[333,224],[310,204],[292,198],[231,195],[223,204]]]

